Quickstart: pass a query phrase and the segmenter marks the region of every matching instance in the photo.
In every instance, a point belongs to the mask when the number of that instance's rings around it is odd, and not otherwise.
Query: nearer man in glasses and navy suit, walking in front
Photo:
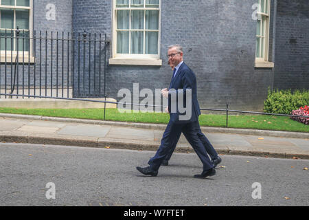
[[[183,132],[203,163],[203,172],[201,175],[194,175],[194,177],[205,178],[215,175],[214,164],[210,161],[203,142],[198,137],[198,132],[201,131],[198,124],[198,115],[201,115],[201,111],[196,94],[196,76],[183,62],[181,46],[170,46],[168,59],[174,65],[174,72],[170,88],[162,89],[161,94],[168,97],[170,121],[163,133],[161,145],[155,157],[152,157],[149,161],[150,166],[145,168],[137,166],[137,170],[144,175],[157,176],[163,160],[174,148],[181,132]]]

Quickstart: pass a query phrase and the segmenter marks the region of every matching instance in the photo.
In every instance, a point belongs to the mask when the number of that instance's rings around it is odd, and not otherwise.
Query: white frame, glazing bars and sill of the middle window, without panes
[[[129,5],[128,8],[117,8],[116,7],[116,0],[113,0],[113,7],[112,7],[112,14],[113,14],[113,20],[112,20],[112,27],[113,27],[113,39],[112,39],[112,54],[111,54],[111,59],[110,59],[110,64],[132,64],[132,65],[161,65],[161,60],[160,58],[160,53],[161,53],[161,0],[159,0],[159,8],[146,8],[146,1],[144,1],[144,7],[143,8],[135,8],[131,7],[130,5],[131,0],[129,0]],[[157,54],[118,54],[117,53],[117,10],[158,10],[159,11],[159,30],[149,30],[149,31],[154,31],[158,32],[158,45],[157,45]],[[130,13],[131,14],[131,13]],[[146,14],[144,14],[145,18]],[[130,15],[129,15],[130,17]],[[130,22],[129,22],[129,25]],[[129,32],[129,40],[130,40],[130,32],[132,32],[132,29],[129,27],[128,30]],[[146,49],[146,41],[145,41],[145,33],[148,31],[146,29],[146,23],[144,22],[144,29],[141,31],[144,32],[144,47],[143,50],[145,51]],[[130,53],[130,47],[129,47],[129,53]],[[118,61],[116,61],[118,60]],[[125,62],[122,62],[120,60],[124,60]],[[147,61],[146,61],[147,60]],[[146,62],[145,62],[146,61]],[[150,62],[149,62],[150,61]],[[157,61],[157,62],[151,62],[151,61]]]

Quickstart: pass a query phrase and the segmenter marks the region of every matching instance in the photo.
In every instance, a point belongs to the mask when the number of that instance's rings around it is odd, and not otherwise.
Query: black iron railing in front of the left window
[[[106,34],[0,34],[0,89],[4,98],[106,97]]]

